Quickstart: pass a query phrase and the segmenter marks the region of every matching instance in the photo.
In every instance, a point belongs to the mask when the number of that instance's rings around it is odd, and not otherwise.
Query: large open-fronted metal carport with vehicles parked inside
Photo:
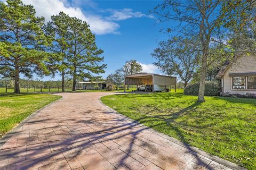
[[[160,74],[149,74],[149,73],[136,73],[132,75],[127,75],[124,78],[124,91],[126,86],[145,86],[145,91],[148,91],[147,87],[151,86],[153,92],[157,91],[168,91],[171,89],[171,86],[174,86],[176,92],[176,77],[160,75]]]

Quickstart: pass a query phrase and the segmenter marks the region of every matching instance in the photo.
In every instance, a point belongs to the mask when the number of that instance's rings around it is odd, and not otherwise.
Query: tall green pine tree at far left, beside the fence
[[[33,72],[49,74],[45,63],[49,55],[43,46],[49,44],[42,30],[44,18],[35,16],[32,5],[20,0],[0,2],[0,70],[14,78],[14,92],[19,93],[20,73],[32,77]]]

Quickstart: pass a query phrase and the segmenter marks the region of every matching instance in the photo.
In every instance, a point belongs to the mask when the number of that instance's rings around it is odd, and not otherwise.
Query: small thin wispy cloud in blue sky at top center
[[[141,18],[141,17],[147,17],[147,18],[154,18],[153,15],[146,15],[141,12],[133,12],[130,8],[124,8],[122,10],[113,10],[109,9],[112,13],[109,17],[107,17],[110,21],[121,21],[121,20],[127,20],[130,18]]]

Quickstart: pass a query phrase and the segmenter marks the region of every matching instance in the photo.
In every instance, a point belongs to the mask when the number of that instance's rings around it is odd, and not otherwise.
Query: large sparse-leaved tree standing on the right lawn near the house
[[[169,32],[183,37],[199,37],[200,83],[198,100],[204,100],[205,76],[209,65],[210,48],[227,39],[229,27],[241,30],[255,25],[255,1],[247,0],[165,0],[154,8],[159,22],[172,21]]]

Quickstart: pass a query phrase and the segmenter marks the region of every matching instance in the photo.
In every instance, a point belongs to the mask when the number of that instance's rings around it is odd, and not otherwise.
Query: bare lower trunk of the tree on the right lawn
[[[200,84],[199,84],[199,91],[198,91],[198,102],[204,102],[204,91],[205,91],[205,73],[206,73],[206,62],[207,62],[207,52],[203,53],[202,58],[202,66],[200,70]]]

